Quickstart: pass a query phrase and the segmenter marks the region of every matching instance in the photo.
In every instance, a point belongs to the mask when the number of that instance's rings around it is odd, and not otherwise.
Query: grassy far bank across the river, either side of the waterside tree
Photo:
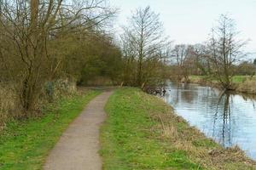
[[[256,77],[235,76],[232,89],[236,92],[256,94]],[[204,76],[190,76],[189,82],[218,88],[218,82]]]

